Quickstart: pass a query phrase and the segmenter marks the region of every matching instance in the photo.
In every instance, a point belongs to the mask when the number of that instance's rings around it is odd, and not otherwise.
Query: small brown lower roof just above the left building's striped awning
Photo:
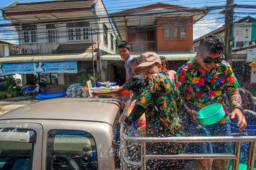
[[[93,49],[96,49],[96,43],[93,43]],[[66,53],[84,53],[92,52],[91,43],[80,43],[80,44],[61,44],[54,54],[66,54]]]

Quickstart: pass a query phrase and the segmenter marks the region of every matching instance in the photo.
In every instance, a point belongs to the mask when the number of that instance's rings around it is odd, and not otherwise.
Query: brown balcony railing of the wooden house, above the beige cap
[[[142,41],[129,43],[131,45],[131,51],[133,52],[157,51],[157,41]]]

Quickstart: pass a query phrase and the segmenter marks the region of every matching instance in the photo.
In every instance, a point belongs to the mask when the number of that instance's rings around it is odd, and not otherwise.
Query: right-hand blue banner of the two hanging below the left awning
[[[77,73],[76,61],[36,62],[36,73]]]

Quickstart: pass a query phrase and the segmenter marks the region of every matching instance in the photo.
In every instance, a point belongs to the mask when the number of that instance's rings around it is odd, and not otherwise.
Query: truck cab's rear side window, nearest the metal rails
[[[47,138],[47,170],[98,170],[92,135],[73,130],[52,130]]]

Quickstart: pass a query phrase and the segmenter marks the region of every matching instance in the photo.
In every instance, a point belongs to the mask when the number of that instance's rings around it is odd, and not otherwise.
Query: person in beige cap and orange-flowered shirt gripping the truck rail
[[[178,89],[165,72],[161,71],[161,60],[154,52],[146,52],[140,55],[139,65],[134,72],[141,71],[145,78],[137,101],[130,115],[121,115],[119,122],[126,127],[131,127],[134,121],[145,112],[147,137],[171,137],[185,136],[183,125],[180,121],[183,111],[186,111],[182,103]],[[184,144],[159,143],[146,144],[149,154],[177,154],[185,152]],[[182,169],[181,160],[149,160],[148,170]]]

